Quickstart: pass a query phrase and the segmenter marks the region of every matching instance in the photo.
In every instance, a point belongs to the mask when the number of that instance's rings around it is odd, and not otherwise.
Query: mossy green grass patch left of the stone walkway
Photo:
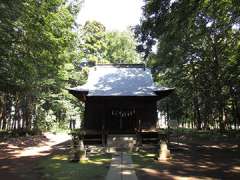
[[[111,155],[91,155],[88,161],[72,163],[68,155],[58,154],[43,159],[39,166],[44,180],[104,179],[111,162]]]

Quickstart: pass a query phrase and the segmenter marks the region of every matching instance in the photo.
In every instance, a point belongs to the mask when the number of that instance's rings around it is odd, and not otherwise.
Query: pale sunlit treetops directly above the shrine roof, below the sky
[[[79,32],[79,61],[90,63],[139,63],[131,32],[108,32],[103,24],[87,21]]]

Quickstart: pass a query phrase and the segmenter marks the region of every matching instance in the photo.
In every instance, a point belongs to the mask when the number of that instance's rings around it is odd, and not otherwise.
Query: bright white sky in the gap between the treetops
[[[85,0],[77,22],[96,20],[109,31],[124,31],[139,23],[142,6],[143,0]]]

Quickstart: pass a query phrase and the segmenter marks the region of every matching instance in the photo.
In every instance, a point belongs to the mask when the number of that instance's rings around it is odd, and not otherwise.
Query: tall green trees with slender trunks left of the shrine
[[[62,91],[60,70],[74,42],[77,4],[1,2],[1,129],[31,130],[44,114],[41,109],[47,112],[49,99]]]

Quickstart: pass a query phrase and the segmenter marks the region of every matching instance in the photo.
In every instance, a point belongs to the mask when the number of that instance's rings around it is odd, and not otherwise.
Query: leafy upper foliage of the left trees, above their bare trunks
[[[20,86],[21,89],[38,92],[53,84],[49,78],[56,76],[66,61],[62,54],[73,40],[73,18],[63,1],[38,3],[29,0],[18,4],[21,7],[17,9],[20,11],[19,17],[11,24],[16,39],[11,40],[9,47],[5,47],[4,42],[1,43],[4,51],[9,51],[7,56],[1,58],[6,60],[1,72],[13,74],[1,80],[16,88]],[[8,2],[2,5],[8,6]],[[9,13],[16,13],[15,9],[11,10]],[[1,25],[3,33],[7,33],[4,29],[7,25]]]

